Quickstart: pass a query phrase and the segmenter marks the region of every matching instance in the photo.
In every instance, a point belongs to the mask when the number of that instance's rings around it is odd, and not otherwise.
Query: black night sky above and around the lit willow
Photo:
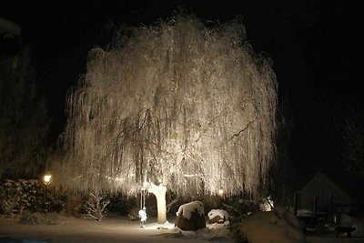
[[[351,109],[362,110],[362,1],[8,2],[0,16],[21,25],[31,49],[53,119],[51,143],[65,126],[67,89],[85,73],[87,52],[110,41],[112,26],[155,23],[183,7],[221,23],[242,15],[248,41],[272,59],[278,76],[279,109],[292,131],[290,160],[302,177],[318,170],[341,177],[337,126]]]

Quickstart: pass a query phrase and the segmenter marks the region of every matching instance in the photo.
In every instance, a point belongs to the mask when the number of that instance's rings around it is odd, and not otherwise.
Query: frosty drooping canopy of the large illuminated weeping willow
[[[207,27],[178,15],[91,50],[67,96],[58,181],[127,195],[143,185],[255,195],[275,158],[277,80],[246,40],[239,18]]]

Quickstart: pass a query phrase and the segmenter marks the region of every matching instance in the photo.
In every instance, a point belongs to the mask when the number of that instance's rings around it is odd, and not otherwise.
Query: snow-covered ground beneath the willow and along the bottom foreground
[[[65,218],[60,225],[25,225],[14,219],[0,218],[0,243],[40,242],[130,242],[130,243],[227,243],[227,225],[207,224],[196,232],[182,231],[171,223],[158,225],[157,218],[148,218],[147,227],[140,228],[138,221],[124,217],[108,217],[100,222],[86,218]],[[359,243],[364,238],[335,237],[335,234],[308,235],[308,243]]]

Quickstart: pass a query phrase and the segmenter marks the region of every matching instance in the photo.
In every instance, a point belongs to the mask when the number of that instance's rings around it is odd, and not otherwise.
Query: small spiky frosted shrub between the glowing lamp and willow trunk
[[[94,218],[100,221],[106,215],[106,206],[110,200],[105,195],[90,193],[85,202],[86,218]]]

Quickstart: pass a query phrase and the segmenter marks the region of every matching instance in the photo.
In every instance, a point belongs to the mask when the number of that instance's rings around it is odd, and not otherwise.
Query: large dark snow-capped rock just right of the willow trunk
[[[183,204],[178,208],[175,226],[182,230],[197,230],[206,228],[204,204],[193,201]]]

